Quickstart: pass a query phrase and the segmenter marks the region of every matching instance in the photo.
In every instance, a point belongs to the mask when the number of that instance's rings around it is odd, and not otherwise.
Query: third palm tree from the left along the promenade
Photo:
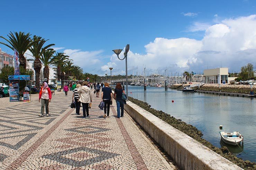
[[[47,83],[49,82],[49,65],[54,62],[54,55],[55,51],[50,49],[43,52],[41,61],[44,65],[44,78],[47,79]]]

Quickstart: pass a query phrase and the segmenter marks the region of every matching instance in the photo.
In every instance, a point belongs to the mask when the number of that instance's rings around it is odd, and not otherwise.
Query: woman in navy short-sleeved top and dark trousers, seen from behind
[[[112,90],[108,83],[104,83],[101,92],[101,100],[104,102],[104,116],[103,118],[109,117],[110,102],[112,101]]]

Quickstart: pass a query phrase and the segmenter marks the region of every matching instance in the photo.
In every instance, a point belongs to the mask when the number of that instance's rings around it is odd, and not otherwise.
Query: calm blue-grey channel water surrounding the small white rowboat
[[[216,147],[223,145],[219,125],[225,132],[239,131],[244,136],[244,144],[240,146],[244,150],[238,146],[227,147],[244,160],[256,161],[256,99],[165,91],[156,87],[147,87],[144,91],[140,86],[129,86],[128,92],[129,96],[149,103],[152,108],[192,124]]]

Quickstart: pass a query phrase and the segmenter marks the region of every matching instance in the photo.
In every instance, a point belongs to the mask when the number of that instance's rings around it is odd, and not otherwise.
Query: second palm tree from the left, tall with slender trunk
[[[36,41],[36,43],[33,44],[32,47],[29,48],[29,51],[33,54],[34,57],[34,70],[36,73],[36,88],[40,88],[40,71],[42,68],[42,62],[40,61],[40,59],[42,58],[43,53],[46,50],[53,50],[53,49],[48,49],[51,46],[54,46],[55,44],[49,44],[45,47],[44,43],[48,40],[42,39],[42,37],[39,36],[34,36],[33,40]]]

